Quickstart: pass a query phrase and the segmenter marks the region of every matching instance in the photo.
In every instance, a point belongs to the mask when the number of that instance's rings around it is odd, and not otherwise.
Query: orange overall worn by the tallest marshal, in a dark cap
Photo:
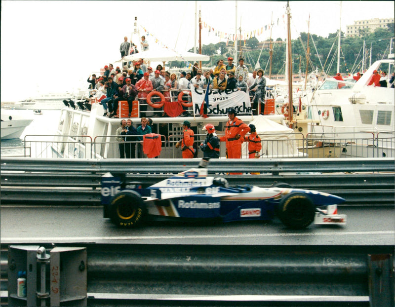
[[[243,123],[237,117],[235,117],[233,120],[228,120],[226,124],[225,136],[222,136],[220,141],[226,141],[226,150],[229,159],[241,158],[242,137],[244,137],[248,131],[250,131],[250,127],[248,127],[247,124]]]

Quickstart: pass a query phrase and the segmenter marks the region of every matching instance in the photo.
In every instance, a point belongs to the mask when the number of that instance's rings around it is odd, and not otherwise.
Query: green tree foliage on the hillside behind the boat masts
[[[389,24],[386,28],[376,29],[374,33],[361,31],[361,37],[344,37],[341,34],[341,51],[340,51],[340,73],[356,73],[362,71],[362,48],[365,40],[365,68],[368,68],[369,62],[372,63],[382,58],[387,58],[390,52],[390,39],[394,37],[394,23]],[[324,72],[328,75],[335,75],[337,73],[337,44],[338,34],[331,33],[327,38],[310,35],[309,40],[309,64],[308,72],[315,71]],[[292,39],[292,69],[294,73],[299,71],[304,73],[306,71],[306,49],[307,49],[308,34],[302,32],[300,37]],[[272,39],[273,43],[273,59],[272,59],[272,74],[284,74],[285,72],[285,57],[286,57],[286,40],[276,38]],[[244,42],[242,42],[244,46]],[[261,44],[257,38],[249,38],[245,40],[245,46],[249,47],[248,51],[243,51],[243,57],[250,72],[255,67],[261,53]],[[259,58],[258,66],[269,72],[269,58],[270,52],[265,44],[262,49],[262,54]],[[394,53],[394,41],[392,47]],[[216,44],[210,43],[202,45],[202,54],[209,55],[211,58],[211,66],[216,66],[219,59],[223,59],[226,64],[226,59],[229,56],[234,57],[233,41],[221,41]],[[191,48],[189,51],[193,51]],[[239,48],[238,48],[238,51]],[[197,51],[198,52],[198,51]],[[369,58],[371,54],[371,59]],[[237,64],[237,59],[235,59]],[[183,62],[173,62],[172,66],[185,67]],[[202,62],[203,66],[210,66],[210,61]]]

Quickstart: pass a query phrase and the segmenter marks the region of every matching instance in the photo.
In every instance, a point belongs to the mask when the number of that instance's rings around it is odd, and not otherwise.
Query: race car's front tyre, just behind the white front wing
[[[303,193],[290,193],[277,208],[280,221],[292,229],[304,229],[313,221],[316,210],[312,200]]]

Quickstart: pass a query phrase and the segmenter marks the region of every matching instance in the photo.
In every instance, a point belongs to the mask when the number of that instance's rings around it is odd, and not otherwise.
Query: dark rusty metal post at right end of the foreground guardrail
[[[368,255],[368,262],[370,306],[394,306],[393,255]]]

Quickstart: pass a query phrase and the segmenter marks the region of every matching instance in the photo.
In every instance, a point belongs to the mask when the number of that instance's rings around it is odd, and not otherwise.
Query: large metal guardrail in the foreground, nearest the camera
[[[88,306],[368,306],[370,300],[378,307],[394,299],[393,246],[74,245],[86,247]],[[3,294],[7,251],[3,245]],[[72,280],[72,272],[62,278]]]

